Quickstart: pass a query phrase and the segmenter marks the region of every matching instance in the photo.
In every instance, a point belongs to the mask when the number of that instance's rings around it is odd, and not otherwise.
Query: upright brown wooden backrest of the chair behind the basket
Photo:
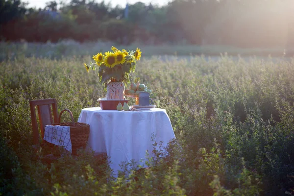
[[[34,144],[38,144],[40,135],[39,135],[39,128],[38,128],[37,117],[35,112],[35,106],[38,106],[38,115],[39,115],[39,121],[41,126],[40,128],[41,128],[41,134],[42,134],[42,140],[43,140],[45,126],[47,124],[58,123],[57,102],[55,98],[49,98],[49,99],[29,101],[29,105],[30,105],[31,119],[32,119],[32,126],[33,126]],[[52,120],[51,105],[52,105],[54,122]]]

